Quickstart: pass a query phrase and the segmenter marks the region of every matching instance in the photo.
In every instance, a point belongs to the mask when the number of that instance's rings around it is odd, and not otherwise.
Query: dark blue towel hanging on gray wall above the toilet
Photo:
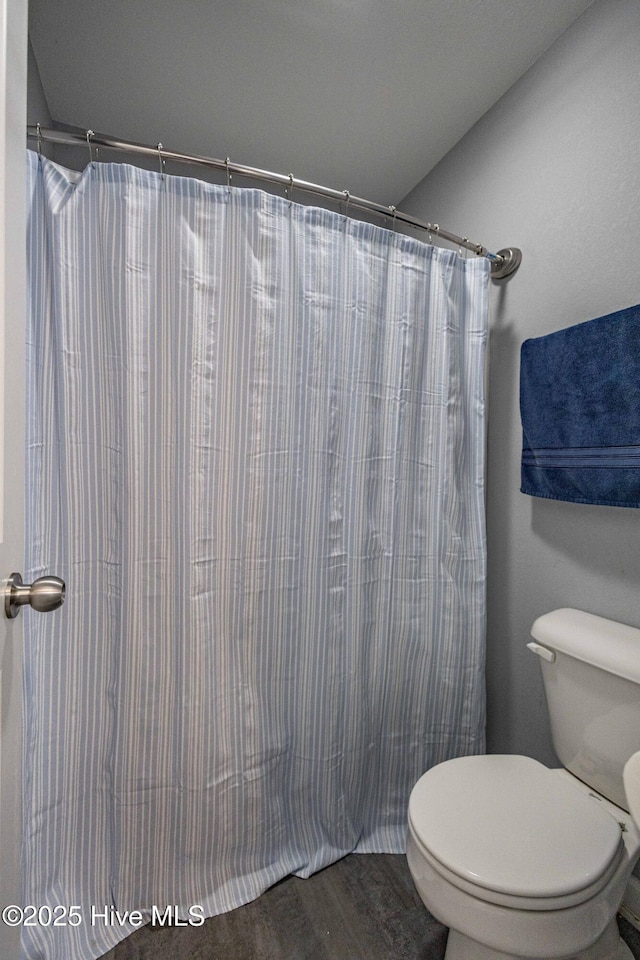
[[[523,493],[640,507],[640,305],[526,340]]]

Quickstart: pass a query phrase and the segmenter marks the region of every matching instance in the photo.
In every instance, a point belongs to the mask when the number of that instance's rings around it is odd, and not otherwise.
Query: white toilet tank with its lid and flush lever
[[[640,750],[640,629],[565,608],[531,628],[562,765],[627,810],[622,771]]]

